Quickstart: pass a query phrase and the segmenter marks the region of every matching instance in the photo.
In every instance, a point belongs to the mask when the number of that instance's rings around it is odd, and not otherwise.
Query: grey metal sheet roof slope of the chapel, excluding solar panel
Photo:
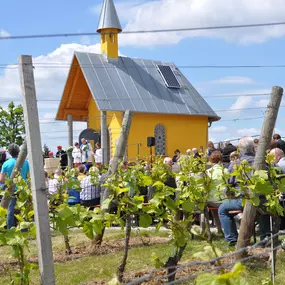
[[[101,111],[132,110],[143,113],[220,117],[173,63],[75,52],[91,94]],[[168,88],[157,65],[168,65],[181,88]]]

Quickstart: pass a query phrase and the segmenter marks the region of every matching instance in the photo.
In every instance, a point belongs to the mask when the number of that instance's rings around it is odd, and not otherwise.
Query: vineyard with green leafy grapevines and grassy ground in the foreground
[[[274,158],[268,155],[266,162],[266,171],[255,171],[243,161],[233,173],[223,171],[219,180],[208,170],[206,157],[181,159],[178,174],[159,157],[151,169],[141,162],[101,175],[93,167],[89,171],[92,184],[102,188],[101,207],[94,210],[68,205],[68,191],[80,191],[80,185],[76,171],[67,169],[58,178],[58,193],[50,195],[48,202],[57,284],[184,281],[206,285],[253,284],[262,280],[262,284],[271,284],[265,260],[273,239],[266,248],[257,243],[242,249],[246,257],[239,260],[234,249],[211,231],[206,207],[213,189],[219,197],[227,189],[243,194],[243,203],[250,201],[256,207],[258,196],[265,195],[266,211],[275,218],[283,215],[279,198],[285,192],[285,183],[277,169],[271,167]],[[232,176],[240,187],[228,183]],[[166,185],[169,177],[176,179],[177,189]],[[0,210],[1,284],[39,284],[31,190],[20,176],[13,182],[18,189],[17,226],[7,230],[6,210]],[[7,189],[11,183],[6,181]],[[144,189],[151,189],[149,200]],[[6,190],[3,195],[8,198],[11,194]],[[195,217],[201,213],[206,216],[205,232],[196,225]],[[280,248],[278,244],[273,252]],[[284,258],[283,252],[278,253],[276,278],[282,278],[278,267]]]

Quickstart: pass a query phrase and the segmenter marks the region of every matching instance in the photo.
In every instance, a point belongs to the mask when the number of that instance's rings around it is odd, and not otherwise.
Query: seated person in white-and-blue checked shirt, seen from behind
[[[91,176],[87,176],[80,182],[82,191],[80,192],[81,205],[89,207],[93,210],[95,206],[100,205],[101,186],[93,185],[91,182]]]

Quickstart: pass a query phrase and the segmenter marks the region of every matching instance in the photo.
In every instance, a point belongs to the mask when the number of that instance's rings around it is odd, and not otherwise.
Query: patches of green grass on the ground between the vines
[[[133,236],[136,232],[133,231]],[[141,231],[140,236],[147,240],[148,236],[168,237],[169,232],[161,231],[155,233],[154,231]],[[105,241],[112,241],[123,238],[124,233],[120,230],[108,230],[105,235]],[[80,246],[89,244],[90,241],[79,231],[72,231],[70,234],[71,246]],[[223,253],[227,253],[230,249],[224,241],[216,240],[214,242]],[[205,242],[194,240],[189,243],[183,255],[184,262],[192,262],[193,253],[199,251]],[[53,237],[53,250],[63,251],[64,243],[61,236]],[[37,253],[35,241],[31,242],[29,256],[35,256]],[[139,272],[145,270],[153,270],[154,265],[151,258],[152,253],[155,253],[162,261],[165,261],[171,255],[171,246],[169,244],[155,244],[151,246],[137,246],[129,251],[129,258],[127,264],[127,272]],[[63,253],[64,254],[64,253]],[[8,247],[0,248],[1,260],[11,260],[11,251]],[[84,284],[92,280],[110,280],[116,274],[117,267],[120,263],[122,252],[111,252],[106,255],[85,256],[80,259],[67,261],[64,263],[55,264],[56,284],[60,285],[77,285]],[[270,270],[264,263],[252,263],[250,269],[245,273],[245,277],[249,284],[262,284],[262,280],[270,277]],[[285,265],[285,254],[281,252],[277,262],[276,284],[285,284],[285,272],[283,267]],[[38,271],[33,270],[31,273],[31,285],[38,285],[39,277]],[[9,284],[9,277],[7,275],[0,275],[0,284]],[[191,283],[186,283],[191,284]]]

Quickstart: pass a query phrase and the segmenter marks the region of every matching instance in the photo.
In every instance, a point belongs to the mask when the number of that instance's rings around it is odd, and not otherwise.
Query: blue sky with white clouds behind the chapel
[[[95,32],[102,3],[103,0],[2,1],[0,36]],[[115,0],[114,3],[124,31],[281,22],[285,14],[283,0]],[[74,51],[99,53],[99,41],[98,36],[0,41],[1,106],[11,100],[21,103],[19,71],[15,66],[19,55],[32,55],[34,63],[43,64],[36,65],[34,70],[42,144],[54,151],[57,145],[68,146],[67,124],[54,120],[68,64]],[[119,36],[121,54],[171,61],[177,66],[285,65],[284,47],[285,25]],[[65,65],[55,67],[55,63]],[[209,128],[209,139],[214,142],[258,135],[272,86],[283,87],[285,83],[285,68],[180,70],[221,117]],[[282,105],[285,106],[283,102]],[[283,136],[284,114],[285,108],[281,107],[275,128]],[[75,124],[75,141],[84,128],[85,123]]]

